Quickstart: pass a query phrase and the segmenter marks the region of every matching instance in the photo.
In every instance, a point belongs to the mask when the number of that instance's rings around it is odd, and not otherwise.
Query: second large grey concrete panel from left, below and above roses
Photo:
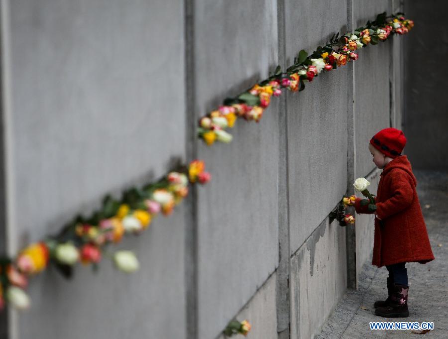
[[[277,64],[273,1],[195,4],[198,117],[265,79]],[[213,338],[278,264],[278,101],[237,121],[231,144],[199,144],[212,182],[198,195],[199,338]]]

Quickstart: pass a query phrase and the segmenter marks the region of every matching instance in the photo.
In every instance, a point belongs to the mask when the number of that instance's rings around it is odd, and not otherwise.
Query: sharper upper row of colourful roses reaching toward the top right
[[[330,72],[358,59],[355,50],[367,45],[384,42],[390,35],[403,35],[414,26],[414,21],[406,19],[403,13],[387,16],[378,14],[374,21],[368,21],[365,26],[358,27],[353,33],[339,37],[333,35],[325,46],[319,46],[313,54],[308,55],[301,50],[294,59],[294,65],[286,72],[277,66],[274,74],[268,79],[255,84],[248,91],[235,98],[227,98],[222,106],[199,120],[198,137],[207,145],[215,141],[229,143],[232,135],[226,128],[233,127],[237,118],[258,122],[263,112],[269,107],[271,97],[279,97],[287,89],[300,92],[305,89],[305,83],[313,81],[321,72]]]

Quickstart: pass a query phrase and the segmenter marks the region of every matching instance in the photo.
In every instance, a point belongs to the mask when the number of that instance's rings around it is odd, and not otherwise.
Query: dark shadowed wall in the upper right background
[[[448,171],[447,1],[404,1],[413,18],[412,34],[404,39],[405,153],[414,168]]]

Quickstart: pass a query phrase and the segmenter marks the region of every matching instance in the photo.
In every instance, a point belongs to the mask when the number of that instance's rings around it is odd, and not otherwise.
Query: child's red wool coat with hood
[[[372,265],[434,260],[416,186],[406,155],[384,166],[375,198],[376,214],[381,220],[375,218]],[[360,201],[355,201],[356,212],[372,213]]]

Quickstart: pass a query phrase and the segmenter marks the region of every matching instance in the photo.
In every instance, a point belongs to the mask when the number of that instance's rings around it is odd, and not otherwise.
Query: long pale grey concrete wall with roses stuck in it
[[[213,180],[126,239],[142,267],[105,261],[67,282],[33,278],[10,339],[313,338],[369,259],[371,218],[328,214],[356,177],[377,183],[368,140],[400,126],[400,38],[360,50],[300,94],[207,147],[197,118],[399,1],[3,0],[7,246],[15,253],[108,192],[205,159]]]

